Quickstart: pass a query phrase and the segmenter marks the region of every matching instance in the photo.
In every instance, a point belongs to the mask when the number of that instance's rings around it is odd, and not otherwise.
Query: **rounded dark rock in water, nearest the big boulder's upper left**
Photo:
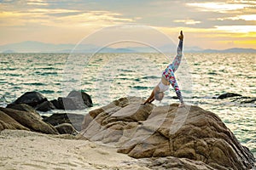
[[[75,101],[77,104],[78,108],[84,109],[84,105],[86,107],[92,107],[92,100],[90,98],[89,94],[86,94],[85,92],[82,91],[75,91],[73,90],[67,95],[67,98],[71,98]]]

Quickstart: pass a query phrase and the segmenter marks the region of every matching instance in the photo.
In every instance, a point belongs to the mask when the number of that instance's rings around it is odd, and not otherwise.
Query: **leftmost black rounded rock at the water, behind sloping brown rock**
[[[10,105],[26,104],[34,107],[36,105],[43,103],[44,101],[47,101],[47,99],[44,97],[43,94],[40,94],[38,92],[26,92]]]

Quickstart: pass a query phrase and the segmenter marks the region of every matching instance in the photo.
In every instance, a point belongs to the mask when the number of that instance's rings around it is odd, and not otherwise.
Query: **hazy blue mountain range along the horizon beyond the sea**
[[[175,50],[173,44],[159,47],[161,52],[170,52]],[[148,47],[128,47],[128,48],[101,48],[91,44],[53,44],[44,42],[18,42],[0,46],[0,53],[156,53],[156,49]],[[198,47],[185,47],[186,53],[256,53],[253,48],[229,48],[224,50],[202,49]]]

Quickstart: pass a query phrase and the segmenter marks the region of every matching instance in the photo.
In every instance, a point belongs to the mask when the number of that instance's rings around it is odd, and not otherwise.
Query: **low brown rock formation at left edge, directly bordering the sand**
[[[0,131],[4,129],[28,130],[48,134],[73,134],[81,130],[84,116],[74,113],[54,113],[51,116],[38,114],[30,105],[9,105],[0,107]]]

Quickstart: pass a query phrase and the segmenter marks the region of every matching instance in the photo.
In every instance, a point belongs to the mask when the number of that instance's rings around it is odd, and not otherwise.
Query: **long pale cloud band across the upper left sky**
[[[33,8],[26,12],[0,13],[0,26],[26,26],[34,23],[41,26],[111,26],[121,22],[133,22],[122,14],[109,11],[81,11],[73,9]]]

